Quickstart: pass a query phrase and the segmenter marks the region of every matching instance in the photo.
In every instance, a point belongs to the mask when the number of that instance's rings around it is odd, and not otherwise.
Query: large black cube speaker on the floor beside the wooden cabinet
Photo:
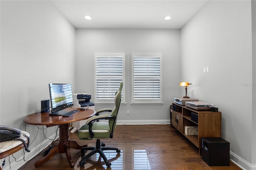
[[[230,144],[222,138],[202,138],[202,160],[209,166],[229,166]]]

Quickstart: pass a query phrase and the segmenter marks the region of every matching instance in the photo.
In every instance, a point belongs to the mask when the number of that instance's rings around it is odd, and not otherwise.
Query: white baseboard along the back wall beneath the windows
[[[117,120],[117,125],[159,125],[170,124],[170,120]]]

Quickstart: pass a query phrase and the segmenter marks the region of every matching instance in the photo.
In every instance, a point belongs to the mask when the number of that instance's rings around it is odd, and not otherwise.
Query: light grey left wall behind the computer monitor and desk
[[[48,83],[75,83],[75,28],[50,1],[1,1],[0,54],[0,125],[24,130],[23,119],[41,109],[41,100],[50,98]],[[27,125],[26,131],[32,142],[37,127]],[[55,131],[48,128],[46,136]],[[29,154],[43,139],[39,130]],[[14,156],[18,160],[22,151]],[[15,162],[12,156],[10,161]]]

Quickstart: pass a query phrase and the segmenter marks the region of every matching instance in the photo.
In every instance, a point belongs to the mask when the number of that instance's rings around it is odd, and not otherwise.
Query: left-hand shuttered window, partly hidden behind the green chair
[[[95,99],[94,103],[114,103],[116,91],[124,81],[124,53],[94,53]],[[124,88],[122,96],[124,95]],[[122,97],[122,101],[123,101]]]

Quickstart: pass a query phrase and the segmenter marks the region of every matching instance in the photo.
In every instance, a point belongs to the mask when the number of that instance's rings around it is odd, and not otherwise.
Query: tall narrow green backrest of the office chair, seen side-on
[[[114,130],[116,128],[117,114],[118,114],[118,110],[119,110],[121,99],[122,99],[122,89],[123,89],[123,82],[121,81],[119,89],[118,89],[118,91],[116,91],[116,95],[115,95],[115,106],[112,109],[112,112],[110,114],[110,116],[116,117],[116,119],[115,120],[109,120],[109,122],[108,122],[109,127],[110,127],[110,131],[111,131],[110,132],[110,138],[113,137],[113,133],[114,133]]]

